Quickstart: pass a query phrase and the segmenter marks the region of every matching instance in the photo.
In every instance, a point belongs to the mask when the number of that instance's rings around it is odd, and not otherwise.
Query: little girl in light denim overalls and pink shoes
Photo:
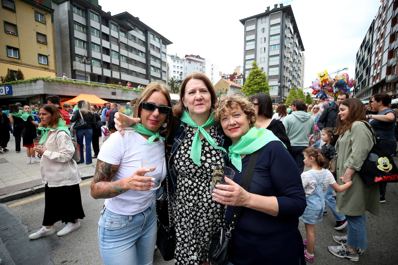
[[[314,262],[315,248],[315,223],[322,221],[325,207],[324,191],[332,186],[337,192],[347,190],[352,181],[339,186],[332,173],[325,169],[329,167],[329,161],[324,157],[321,149],[309,147],[303,151],[304,164],[311,169],[301,174],[302,186],[307,199],[307,207],[299,218],[305,224],[306,239],[303,240],[307,250],[304,250],[305,259]]]

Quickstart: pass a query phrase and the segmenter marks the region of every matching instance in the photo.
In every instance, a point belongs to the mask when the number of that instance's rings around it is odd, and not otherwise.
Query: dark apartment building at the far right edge
[[[381,92],[386,92],[392,97],[397,95],[397,7],[397,0],[382,2],[358,50],[354,96],[359,99],[368,100],[372,95]]]

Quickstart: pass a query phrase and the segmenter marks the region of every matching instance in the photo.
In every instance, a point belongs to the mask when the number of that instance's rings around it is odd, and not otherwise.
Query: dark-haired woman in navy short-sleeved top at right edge
[[[368,114],[366,117],[369,123],[376,131],[376,136],[388,149],[390,154],[394,154],[397,149],[395,139],[396,113],[388,105],[391,103],[391,97],[387,93],[380,93],[373,97],[370,101],[372,110],[377,111],[375,114]],[[380,203],[386,202],[387,183],[379,183]]]

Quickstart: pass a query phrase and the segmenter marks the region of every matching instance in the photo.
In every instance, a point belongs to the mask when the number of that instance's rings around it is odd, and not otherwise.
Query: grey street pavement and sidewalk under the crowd
[[[13,144],[11,143],[10,145]],[[5,158],[7,160],[6,163],[1,164],[0,170],[0,179],[4,185],[7,185],[9,180],[18,179],[18,174],[21,174],[21,172],[27,176],[39,174],[38,164],[29,165],[22,163],[26,161],[26,153],[23,153],[23,151],[24,148],[22,148],[21,153],[16,154],[15,151],[10,149],[8,153],[0,156],[0,159]],[[22,162],[18,163],[18,159],[22,159]],[[96,162],[96,159],[93,160],[92,166],[79,165],[79,168],[82,167],[83,170],[88,167],[84,170],[89,172],[89,170],[92,170],[90,168],[95,169],[94,161]],[[394,161],[398,164],[398,158],[394,158]],[[9,166],[13,167],[14,171],[9,170]],[[25,170],[24,168],[28,168],[29,170]],[[8,175],[6,172],[8,172]],[[92,174],[94,173],[93,170],[91,172]],[[14,176],[14,178],[4,178],[5,176]],[[29,240],[28,238],[29,234],[41,227],[44,213],[44,192],[37,192],[26,197],[0,203],[0,258],[3,259],[2,265],[103,264],[98,249],[97,231],[98,219],[104,199],[95,200],[91,197],[90,182],[91,178],[88,178],[80,183],[82,204],[86,215],[80,221],[81,227],[62,237],[53,234],[37,240]],[[355,198],[353,199],[355,200]],[[380,205],[380,216],[375,217],[366,213],[368,244],[366,251],[359,256],[359,262],[356,264],[397,264],[397,199],[398,183],[390,183],[387,186],[386,203]],[[67,198],[64,199],[64,203],[68,203]],[[62,207],[62,205],[59,207]],[[316,245],[314,252],[314,262],[316,264],[352,263],[348,259],[335,257],[327,249],[328,246],[337,245],[332,240],[333,235],[341,236],[347,234],[347,227],[343,228],[343,230],[335,231],[333,228],[335,224],[336,220],[331,211],[328,211],[328,215],[324,216],[322,222],[316,223]],[[63,226],[64,224],[60,222],[55,224],[57,231],[62,229]],[[299,222],[299,229],[303,238],[305,238],[304,223],[301,221]],[[287,245],[286,251],[289,251],[289,245]],[[281,257],[281,263],[282,261],[283,257]],[[173,261],[163,261],[158,250],[154,252],[155,265],[169,265],[173,263]],[[264,264],[267,264],[266,261]]]

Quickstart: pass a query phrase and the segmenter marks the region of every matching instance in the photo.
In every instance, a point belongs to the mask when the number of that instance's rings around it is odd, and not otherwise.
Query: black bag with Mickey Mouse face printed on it
[[[366,127],[376,139],[376,143],[363,162],[359,176],[366,186],[370,187],[375,183],[398,182],[398,169],[392,160],[388,149],[380,142],[367,122]]]

